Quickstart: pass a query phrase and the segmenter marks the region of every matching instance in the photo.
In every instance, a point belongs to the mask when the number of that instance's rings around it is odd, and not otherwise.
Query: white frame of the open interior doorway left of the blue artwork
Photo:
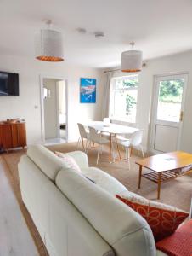
[[[42,133],[42,144],[45,143],[45,119],[44,119],[44,99],[43,99],[43,79],[58,79],[63,80],[65,82],[65,109],[66,109],[66,143],[68,142],[68,83],[67,79],[63,76],[57,75],[47,75],[47,74],[40,74],[39,81],[40,81],[40,107],[41,107],[41,133]],[[56,87],[56,98],[57,98],[57,107],[58,107],[58,89]],[[57,115],[57,128],[59,127],[59,109],[56,109]],[[57,129],[59,130],[59,128]]]

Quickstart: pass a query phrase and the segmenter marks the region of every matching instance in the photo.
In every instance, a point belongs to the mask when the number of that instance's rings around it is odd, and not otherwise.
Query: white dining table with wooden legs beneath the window
[[[110,125],[105,125],[104,122],[102,121],[90,121],[87,124],[83,124],[84,126],[88,127],[93,127],[95,130],[100,131],[101,133],[109,133],[110,136],[110,162],[111,162],[111,148],[112,148],[112,137],[115,137],[116,135],[121,135],[121,134],[133,134],[133,132],[138,131],[138,128],[130,127],[127,125],[116,125],[113,123],[110,123]],[[116,146],[119,154],[119,159],[121,160],[121,154],[118,148],[118,143],[116,139]]]

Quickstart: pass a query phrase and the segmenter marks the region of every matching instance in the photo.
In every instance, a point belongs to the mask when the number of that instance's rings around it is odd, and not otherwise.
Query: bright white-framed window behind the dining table
[[[135,123],[138,75],[111,79],[110,118]]]

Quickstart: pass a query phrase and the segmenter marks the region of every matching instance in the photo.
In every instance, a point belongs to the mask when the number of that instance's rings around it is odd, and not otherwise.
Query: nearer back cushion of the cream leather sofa
[[[113,247],[116,255],[155,255],[155,241],[149,225],[115,196],[69,169],[59,172],[55,183]]]

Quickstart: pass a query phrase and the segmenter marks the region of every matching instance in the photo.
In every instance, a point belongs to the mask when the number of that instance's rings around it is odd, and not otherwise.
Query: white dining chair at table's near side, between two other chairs
[[[110,140],[105,137],[102,137],[102,134],[98,132],[96,129],[94,129],[93,127],[88,126],[88,129],[89,129],[89,138],[88,138],[89,142],[99,144],[98,156],[97,156],[97,165],[98,165],[99,154],[102,154],[102,146],[106,143],[110,143]]]

